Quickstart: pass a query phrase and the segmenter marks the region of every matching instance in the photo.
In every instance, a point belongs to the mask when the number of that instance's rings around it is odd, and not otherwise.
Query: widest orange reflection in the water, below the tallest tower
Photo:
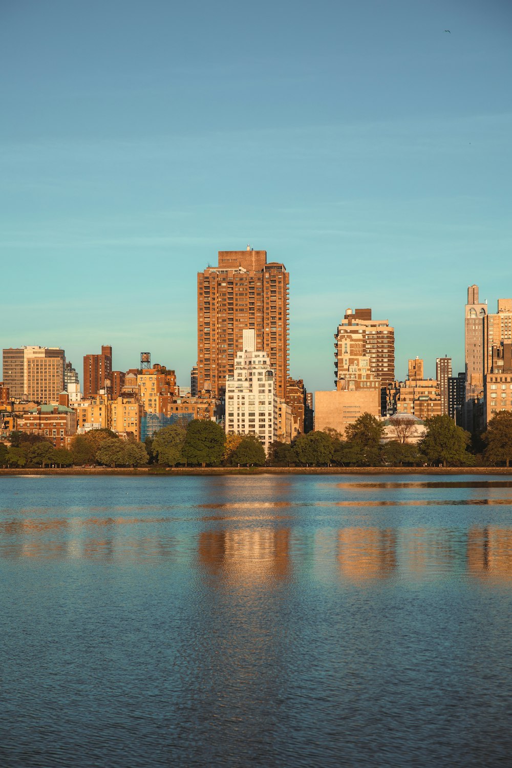
[[[207,573],[230,581],[282,579],[289,574],[289,528],[203,531],[199,563]]]

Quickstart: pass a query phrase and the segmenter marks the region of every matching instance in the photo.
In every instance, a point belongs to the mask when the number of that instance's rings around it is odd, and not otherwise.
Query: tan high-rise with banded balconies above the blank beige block
[[[395,380],[395,329],[388,320],[372,319],[371,309],[346,310],[335,333],[335,384],[346,379],[347,359],[353,353],[368,358],[368,371],[381,382],[381,412],[385,413],[386,386]],[[352,342],[352,345],[351,345]],[[355,352],[355,346],[358,352]]]

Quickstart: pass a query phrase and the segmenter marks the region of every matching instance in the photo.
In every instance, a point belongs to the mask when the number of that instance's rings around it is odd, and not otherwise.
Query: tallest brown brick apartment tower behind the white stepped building
[[[289,273],[266,261],[265,250],[219,251],[219,265],[197,275],[197,389],[223,396],[226,378],[243,351],[243,330],[253,329],[266,353],[276,394],[286,398]]]

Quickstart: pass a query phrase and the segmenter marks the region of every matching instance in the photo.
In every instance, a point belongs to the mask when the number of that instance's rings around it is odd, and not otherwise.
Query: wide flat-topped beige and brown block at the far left
[[[12,399],[58,402],[64,389],[64,362],[64,349],[57,346],[4,349],[4,382]]]

